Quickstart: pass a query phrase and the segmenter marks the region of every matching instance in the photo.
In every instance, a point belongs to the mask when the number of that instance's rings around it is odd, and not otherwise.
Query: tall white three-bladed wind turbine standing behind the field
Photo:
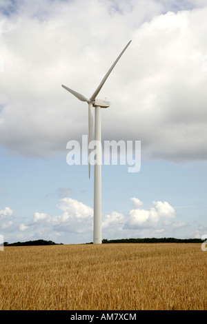
[[[92,117],[92,107],[95,107],[95,143],[99,143],[97,145],[97,161],[95,163],[94,170],[94,228],[93,228],[93,243],[100,244],[102,241],[101,238],[101,161],[102,161],[102,152],[101,152],[101,108],[108,108],[110,106],[110,102],[106,100],[97,99],[97,95],[99,94],[103,84],[106,82],[110,72],[112,72],[113,68],[119,61],[121,55],[125,52],[130,42],[126,45],[124,50],[119,54],[115,63],[111,66],[111,68],[106,73],[105,77],[103,77],[101,83],[99,84],[97,90],[92,94],[90,99],[83,96],[83,94],[79,94],[74,90],[62,85],[63,88],[68,90],[71,94],[73,94],[77,99],[81,101],[86,101],[88,103],[88,165],[89,165],[89,178],[90,178],[90,142],[92,141],[92,126],[93,126],[93,117]]]

